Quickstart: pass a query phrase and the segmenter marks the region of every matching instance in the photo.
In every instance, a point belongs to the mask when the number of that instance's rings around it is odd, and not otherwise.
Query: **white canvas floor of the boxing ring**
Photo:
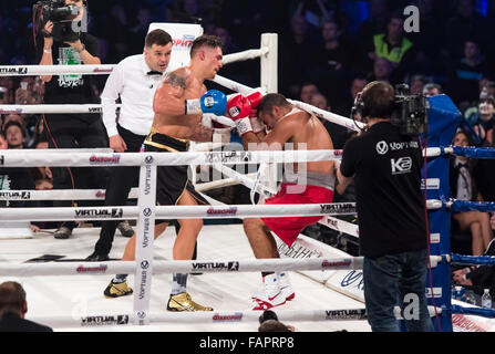
[[[56,240],[51,233],[40,232],[31,239],[1,240],[0,262],[25,262],[43,254],[64,256],[63,259],[84,259],[92,253],[99,237],[99,228],[78,228],[72,238]],[[175,239],[174,228],[168,228],[155,241],[155,259],[169,260]],[[116,232],[111,258],[122,256],[127,239]],[[245,260],[254,259],[241,225],[205,226],[198,241],[198,259],[202,260]],[[364,304],[340,294],[306,275],[291,272],[296,299],[276,312],[283,310],[332,310],[358,309]],[[155,275],[152,282],[151,312],[165,311],[171,290],[169,274]],[[60,277],[0,277],[0,282],[16,280],[22,283],[28,294],[27,319],[50,317],[54,315],[93,315],[131,313],[133,296],[105,299],[103,290],[109,275],[60,275]],[[260,274],[256,273],[204,273],[189,275],[188,292],[193,299],[207,304],[215,311],[249,310],[250,295],[260,287]],[[134,277],[128,284],[133,287]],[[51,325],[50,321],[44,324]],[[290,323],[301,332],[368,332],[365,321],[295,321]],[[97,327],[56,327],[54,331],[192,331],[192,332],[250,332],[257,331],[257,322],[236,323],[159,323],[146,326],[97,326]]]

